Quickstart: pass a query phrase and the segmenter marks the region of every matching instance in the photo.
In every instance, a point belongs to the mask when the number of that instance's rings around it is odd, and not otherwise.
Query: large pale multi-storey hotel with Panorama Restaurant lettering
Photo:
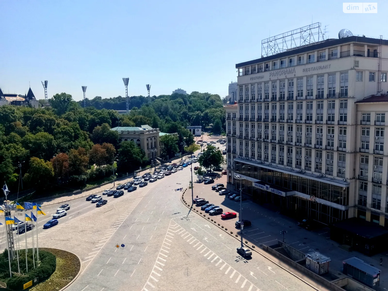
[[[388,40],[350,36],[236,64],[228,182],[322,223],[388,226]]]

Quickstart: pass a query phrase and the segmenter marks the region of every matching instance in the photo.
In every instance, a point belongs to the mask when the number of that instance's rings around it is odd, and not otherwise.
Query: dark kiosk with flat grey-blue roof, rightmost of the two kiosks
[[[343,274],[371,288],[380,286],[380,273],[378,268],[355,257],[343,261]]]

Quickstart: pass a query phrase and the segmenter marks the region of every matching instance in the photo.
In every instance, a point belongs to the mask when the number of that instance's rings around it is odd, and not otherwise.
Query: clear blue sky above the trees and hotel
[[[235,64],[261,55],[261,40],[321,22],[388,39],[387,2],[378,14],[344,14],[340,1],[10,1],[0,3],[0,87],[38,99],[171,94],[176,88],[224,97]],[[386,33],[386,35],[384,35]]]

